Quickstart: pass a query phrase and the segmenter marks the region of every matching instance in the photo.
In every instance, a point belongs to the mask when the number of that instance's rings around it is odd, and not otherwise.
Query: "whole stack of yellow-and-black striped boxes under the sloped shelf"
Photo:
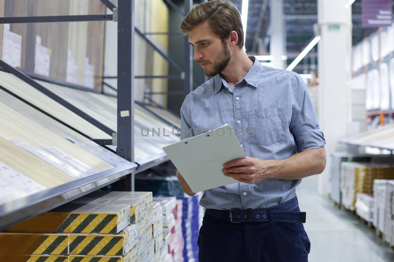
[[[0,261],[160,261],[152,203],[152,192],[92,192],[0,233]]]

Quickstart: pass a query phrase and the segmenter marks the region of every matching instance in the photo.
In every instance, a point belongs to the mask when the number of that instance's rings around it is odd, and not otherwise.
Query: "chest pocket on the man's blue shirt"
[[[281,108],[255,108],[248,113],[252,143],[269,146],[283,140]]]

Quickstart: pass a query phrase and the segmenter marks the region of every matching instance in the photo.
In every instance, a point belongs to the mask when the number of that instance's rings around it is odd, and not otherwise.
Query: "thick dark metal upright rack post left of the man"
[[[134,162],[134,20],[134,0],[119,1],[116,153],[130,162]],[[134,191],[134,173],[119,181],[117,189]]]

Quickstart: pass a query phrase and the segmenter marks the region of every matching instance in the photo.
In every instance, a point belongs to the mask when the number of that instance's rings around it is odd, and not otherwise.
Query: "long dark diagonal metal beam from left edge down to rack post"
[[[51,91],[46,89],[41,84],[39,84],[38,82],[34,81],[31,77],[29,77],[26,74],[22,73],[20,70],[18,70],[16,68],[13,68],[12,66],[7,64],[3,60],[0,60],[0,66],[2,68],[4,68],[5,70],[9,71],[10,73],[12,73],[13,75],[15,75],[16,77],[18,77],[20,80],[30,84],[35,89],[39,90],[41,93],[44,93],[48,97],[52,98],[54,101],[58,102],[62,106],[68,108],[69,110],[71,110],[75,114],[79,115],[80,117],[82,117],[83,119],[85,119],[86,121],[91,123],[92,125],[96,126],[100,130],[104,131],[106,134],[112,136],[112,133],[115,132],[111,128],[108,128],[108,126],[103,125],[102,123],[100,123],[99,121],[97,121],[96,119],[91,117],[90,115],[86,114],[84,111],[80,110],[76,106],[74,106],[74,105],[70,104],[69,102],[65,101],[63,98],[59,97],[55,93],[52,93]]]

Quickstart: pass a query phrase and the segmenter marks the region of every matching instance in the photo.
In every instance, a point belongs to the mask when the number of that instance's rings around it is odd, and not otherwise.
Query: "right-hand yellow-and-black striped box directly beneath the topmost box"
[[[137,244],[136,225],[116,235],[70,234],[70,255],[123,256]]]

